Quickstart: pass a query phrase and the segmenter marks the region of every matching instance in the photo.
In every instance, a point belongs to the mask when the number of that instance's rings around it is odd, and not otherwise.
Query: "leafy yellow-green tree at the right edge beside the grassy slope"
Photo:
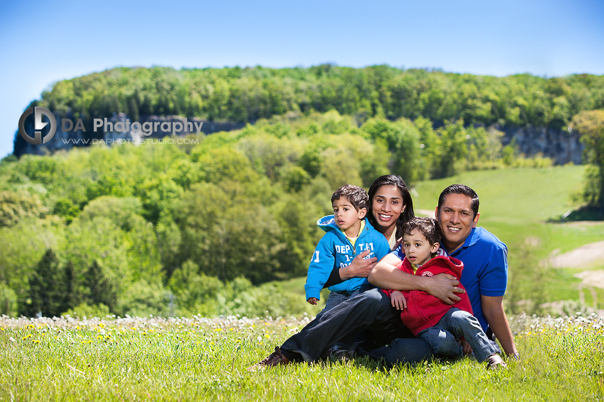
[[[593,194],[585,195],[591,205],[599,206],[604,213],[604,110],[580,112],[573,117],[573,127],[581,133],[586,162],[594,165],[597,172],[592,176],[596,183],[586,183],[586,188],[593,188]]]

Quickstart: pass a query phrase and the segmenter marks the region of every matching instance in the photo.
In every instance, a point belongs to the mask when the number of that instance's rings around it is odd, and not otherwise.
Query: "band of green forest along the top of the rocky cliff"
[[[294,111],[337,110],[361,123],[370,117],[427,118],[436,125],[565,126],[582,110],[604,108],[604,77],[530,74],[490,77],[390,66],[347,68],[114,68],[59,81],[37,106],[86,124],[127,113],[254,122]]]

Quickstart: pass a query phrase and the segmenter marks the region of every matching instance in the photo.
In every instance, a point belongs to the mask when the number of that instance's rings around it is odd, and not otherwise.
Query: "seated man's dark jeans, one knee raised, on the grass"
[[[369,330],[377,343],[371,346],[365,343],[359,348],[361,354],[383,358],[389,364],[418,362],[432,356],[432,349],[423,339],[397,339],[412,336],[411,332],[390,305],[390,298],[379,289],[367,290],[322,312],[300,333],[286,340],[281,349],[290,359],[299,360],[295,358],[300,356],[313,362],[334,343],[351,342],[356,333],[364,330]],[[388,346],[382,346],[387,343]]]

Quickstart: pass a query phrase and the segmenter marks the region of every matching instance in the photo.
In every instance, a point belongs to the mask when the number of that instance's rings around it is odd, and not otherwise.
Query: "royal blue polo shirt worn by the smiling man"
[[[393,251],[402,260],[402,247]],[[466,288],[474,316],[483,330],[488,324],[484,319],[480,296],[503,296],[507,288],[507,246],[484,228],[474,228],[463,246],[451,257],[463,262],[461,284]]]

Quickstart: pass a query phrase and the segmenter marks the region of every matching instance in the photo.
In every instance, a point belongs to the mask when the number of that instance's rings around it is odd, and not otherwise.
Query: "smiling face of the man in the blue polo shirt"
[[[449,253],[457,250],[476,227],[480,213],[474,217],[472,198],[464,194],[449,194],[440,209],[436,208],[436,219],[443,232],[443,244]]]

